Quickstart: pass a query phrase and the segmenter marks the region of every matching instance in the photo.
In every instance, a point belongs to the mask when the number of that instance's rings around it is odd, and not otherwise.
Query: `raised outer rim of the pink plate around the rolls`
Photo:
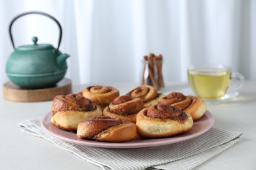
[[[57,139],[61,139],[63,141],[69,142],[69,143],[85,145],[85,146],[93,146],[93,147],[99,147],[99,148],[146,148],[146,147],[163,146],[163,145],[167,145],[167,144],[179,143],[179,142],[187,141],[189,139],[193,139],[195,137],[202,135],[203,133],[209,131],[209,129],[211,129],[211,127],[213,127],[213,125],[215,123],[215,118],[213,117],[211,112],[209,112],[209,110],[207,110],[203,116],[207,116],[208,119],[211,120],[209,122],[208,126],[201,129],[200,131],[197,131],[196,133],[192,133],[188,136],[175,137],[175,138],[166,137],[166,138],[143,139],[143,140],[139,139],[138,140],[138,141],[146,141],[145,143],[137,143],[136,141],[128,141],[125,143],[109,143],[109,142],[102,142],[102,141],[91,141],[91,140],[89,141],[86,139],[70,139],[68,137],[58,135],[58,134],[54,133],[53,131],[49,130],[45,126],[46,123],[51,123],[51,121],[45,122],[45,120],[47,120],[47,118],[49,116],[51,116],[51,112],[45,114],[45,116],[43,116],[43,118],[41,119],[41,128],[47,134],[49,134],[53,137],[56,137]],[[56,126],[54,126],[54,127],[56,127]],[[56,127],[56,128],[58,128],[58,127]],[[65,131],[64,129],[60,129],[60,128],[58,128],[58,130]],[[69,133],[72,133],[72,132],[70,131]],[[158,142],[159,140],[161,140],[161,141]]]

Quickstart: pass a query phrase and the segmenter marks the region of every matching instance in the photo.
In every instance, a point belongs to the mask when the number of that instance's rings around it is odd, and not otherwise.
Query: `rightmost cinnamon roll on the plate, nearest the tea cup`
[[[206,103],[199,97],[193,95],[183,95],[182,93],[172,92],[162,97],[158,103],[172,105],[190,114],[194,121],[199,120],[207,110]]]

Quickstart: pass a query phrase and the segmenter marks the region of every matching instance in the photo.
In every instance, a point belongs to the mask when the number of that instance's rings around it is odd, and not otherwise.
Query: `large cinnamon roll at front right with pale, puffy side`
[[[170,137],[191,129],[193,120],[176,107],[161,103],[141,110],[136,126],[141,137]]]

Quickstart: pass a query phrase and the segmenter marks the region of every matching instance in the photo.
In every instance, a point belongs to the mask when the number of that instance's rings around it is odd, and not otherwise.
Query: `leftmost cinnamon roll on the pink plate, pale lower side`
[[[75,131],[79,122],[101,116],[102,111],[83,95],[68,94],[54,97],[51,114],[51,122],[55,126]]]

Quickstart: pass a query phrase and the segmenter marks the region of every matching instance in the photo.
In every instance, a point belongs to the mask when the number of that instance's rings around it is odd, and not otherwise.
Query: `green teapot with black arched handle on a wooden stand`
[[[41,14],[56,22],[60,29],[58,47],[51,44],[37,44],[37,37],[33,37],[33,44],[14,46],[11,27],[15,20],[28,14]],[[9,26],[14,52],[7,59],[6,73],[10,80],[26,89],[50,88],[64,78],[68,69],[66,59],[68,54],[62,54],[58,48],[62,39],[62,28],[59,22],[44,12],[26,12],[14,18]]]

